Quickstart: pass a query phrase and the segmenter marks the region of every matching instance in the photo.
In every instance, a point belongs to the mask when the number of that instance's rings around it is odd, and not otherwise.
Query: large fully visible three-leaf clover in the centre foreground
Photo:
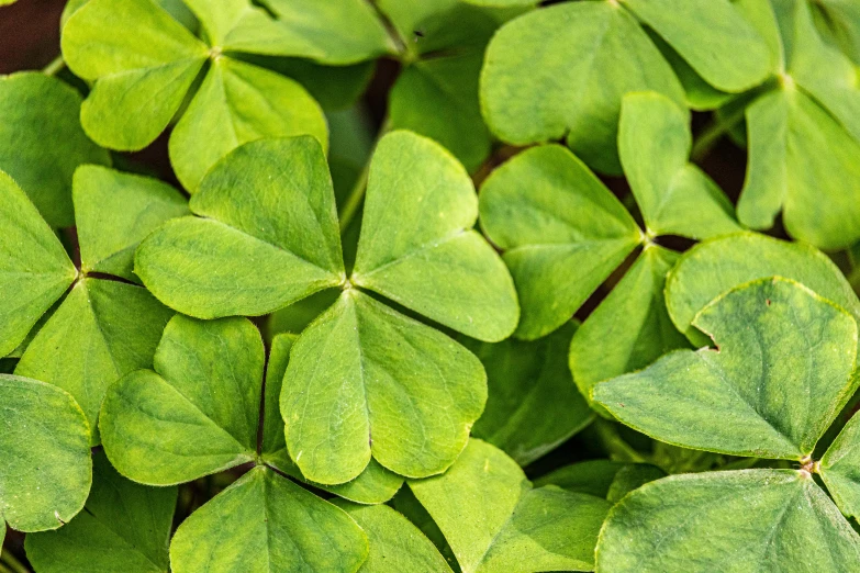
[[[137,273],[171,307],[203,318],[255,315],[345,286],[295,342],[281,395],[289,452],[308,480],[349,482],[371,449],[383,467],[410,476],[454,462],[483,408],[480,362],[365,290],[469,336],[510,335],[516,294],[499,257],[471,229],[477,198],[462,166],[409,132],[382,138],[348,281],[331,178],[310,137],[239,147],[190,206],[202,217],[166,224],[136,255]],[[415,371],[415,361],[426,368]],[[444,417],[440,404],[449,408]]]

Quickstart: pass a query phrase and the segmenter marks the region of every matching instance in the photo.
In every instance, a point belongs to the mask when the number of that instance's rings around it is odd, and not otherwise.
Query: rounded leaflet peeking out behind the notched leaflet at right
[[[830,259],[803,243],[758,233],[705,240],[682,255],[666,280],[669,316],[694,345],[707,345],[707,337],[691,327],[693,317],[724,292],[773,276],[805,284],[860,321],[860,301]]]

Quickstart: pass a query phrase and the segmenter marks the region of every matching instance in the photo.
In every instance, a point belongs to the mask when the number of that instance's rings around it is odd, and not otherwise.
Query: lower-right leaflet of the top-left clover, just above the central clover
[[[216,58],[170,137],[170,164],[191,193],[230,151],[264,137],[313,135],[323,148],[328,130],[320,105],[295,81],[228,57]]]

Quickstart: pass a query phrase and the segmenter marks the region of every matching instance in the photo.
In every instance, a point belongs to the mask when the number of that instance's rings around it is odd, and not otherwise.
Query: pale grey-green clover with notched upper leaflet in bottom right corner
[[[647,484],[610,513],[597,566],[713,571],[730,554],[753,569],[849,568],[860,554],[860,537],[811,473],[827,475],[842,510],[856,510],[856,486],[845,480],[853,426],[820,462],[812,460],[857,386],[856,321],[802,284],[774,277],[721,295],[693,325],[713,336],[717,349],[669,353],[641,372],[597,384],[594,400],[663,441],[795,460],[802,468],[678,475]],[[841,468],[840,457],[849,460]],[[727,526],[741,514],[744,527]],[[705,539],[710,542],[701,543]],[[812,546],[800,548],[796,539]],[[690,543],[701,546],[695,555]]]

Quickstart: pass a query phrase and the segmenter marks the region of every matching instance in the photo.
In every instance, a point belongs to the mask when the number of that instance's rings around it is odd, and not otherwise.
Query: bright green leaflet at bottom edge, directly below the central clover
[[[451,573],[442,553],[409,519],[387,505],[337,503],[364,529],[370,553],[362,573]]]

